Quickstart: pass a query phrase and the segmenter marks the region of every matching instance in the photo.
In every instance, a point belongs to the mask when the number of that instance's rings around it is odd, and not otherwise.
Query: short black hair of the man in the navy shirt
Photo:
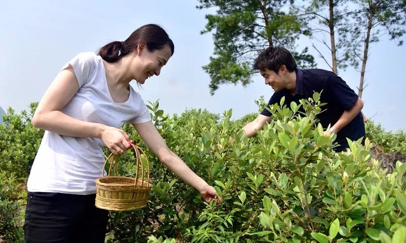
[[[268,47],[261,52],[254,61],[254,70],[269,69],[276,73],[279,72],[280,66],[285,65],[292,72],[297,68],[291,52],[282,46]]]

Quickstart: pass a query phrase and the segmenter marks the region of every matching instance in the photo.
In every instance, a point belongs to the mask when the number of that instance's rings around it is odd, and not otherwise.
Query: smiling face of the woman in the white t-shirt
[[[136,58],[134,79],[140,84],[144,84],[146,79],[153,75],[158,76],[172,54],[169,45],[165,45],[162,50],[155,50],[153,52],[149,52],[145,45],[144,47],[137,48],[137,51],[138,56]]]

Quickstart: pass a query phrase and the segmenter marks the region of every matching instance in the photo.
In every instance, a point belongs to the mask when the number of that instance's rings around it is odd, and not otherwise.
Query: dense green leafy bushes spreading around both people
[[[256,103],[261,110],[263,98]],[[0,169],[14,172],[11,177],[16,180],[10,185],[26,180],[27,162],[42,137],[43,131],[31,125],[35,104],[31,108],[30,114],[20,116],[9,109],[0,126]],[[203,203],[199,193],[168,171],[132,126],[125,125],[130,139],[146,149],[153,188],[146,208],[110,212],[106,242],[404,240],[405,163],[397,162],[394,172],[386,174],[371,158],[369,140],[365,148],[355,141],[347,152],[335,153],[334,136],[324,136],[317,121],[323,109],[317,94],[300,104],[273,105],[275,119],[251,139],[240,129],[256,114],[233,121],[231,110],[220,117],[190,109],[170,118],[158,102],[148,108],[168,147],[214,186],[223,202]],[[367,125],[367,134],[376,141],[382,141],[379,136],[384,133],[379,127]],[[399,139],[396,146],[401,150],[403,137],[392,139]],[[387,146],[395,146],[391,144]],[[122,155],[119,174],[134,175],[134,161],[130,151]],[[1,225],[0,235],[19,237],[11,240],[16,242],[22,239],[25,205],[20,190],[2,192],[0,199],[18,204],[0,211],[7,225]]]

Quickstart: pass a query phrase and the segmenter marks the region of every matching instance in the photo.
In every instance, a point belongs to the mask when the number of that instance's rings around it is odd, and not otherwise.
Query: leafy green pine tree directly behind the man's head
[[[215,8],[201,34],[213,32],[214,53],[203,67],[211,78],[210,93],[222,84],[243,86],[251,82],[252,63],[258,52],[283,45],[292,51],[298,66],[314,67],[314,57],[296,52],[296,40],[309,35],[306,16],[287,0],[199,0],[197,8]]]

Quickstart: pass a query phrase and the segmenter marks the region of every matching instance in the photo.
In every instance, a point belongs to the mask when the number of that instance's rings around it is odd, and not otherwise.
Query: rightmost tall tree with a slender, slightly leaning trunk
[[[349,40],[353,43],[354,55],[361,62],[358,87],[358,96],[361,97],[366,87],[364,75],[370,44],[378,42],[383,35],[389,35],[398,46],[403,44],[400,38],[406,33],[406,0],[355,0],[355,3],[360,11],[354,14],[353,25],[349,25]]]

